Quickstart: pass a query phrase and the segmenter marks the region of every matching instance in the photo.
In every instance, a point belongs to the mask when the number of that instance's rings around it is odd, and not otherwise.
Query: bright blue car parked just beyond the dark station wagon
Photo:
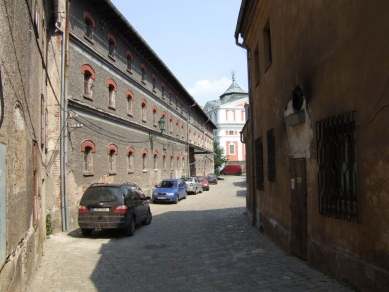
[[[155,186],[153,202],[171,202],[177,204],[180,199],[186,199],[187,185],[182,179],[164,179]]]

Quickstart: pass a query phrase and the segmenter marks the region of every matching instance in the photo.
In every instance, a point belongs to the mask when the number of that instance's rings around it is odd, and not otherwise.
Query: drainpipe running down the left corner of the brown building
[[[242,3],[242,7],[245,7],[245,0],[243,0],[244,3]],[[240,14],[240,13],[239,13]],[[237,26],[240,26],[240,21],[241,19],[239,18],[238,20],[238,25]],[[248,93],[249,93],[249,113],[250,113],[250,116],[249,116],[249,123],[250,123],[250,140],[251,140],[251,162],[250,162],[250,173],[251,173],[251,195],[252,195],[252,198],[253,198],[253,204],[254,204],[254,212],[253,212],[253,220],[251,222],[252,226],[255,226],[255,222],[256,222],[256,197],[255,197],[255,191],[254,191],[254,161],[253,161],[253,158],[254,158],[254,151],[253,149],[255,149],[254,147],[254,121],[253,121],[253,115],[252,115],[252,112],[254,110],[253,108],[253,98],[252,98],[252,95],[251,95],[251,87],[250,87],[250,50],[247,46],[245,46],[244,44],[241,44],[239,43],[238,41],[238,37],[239,37],[239,34],[238,33],[235,33],[235,44],[243,49],[246,50],[246,55],[247,55],[247,76],[248,76]]]

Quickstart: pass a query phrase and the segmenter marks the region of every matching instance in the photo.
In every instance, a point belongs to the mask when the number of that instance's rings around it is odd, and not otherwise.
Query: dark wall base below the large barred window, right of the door
[[[310,242],[308,263],[356,291],[388,291],[389,273],[338,250]]]

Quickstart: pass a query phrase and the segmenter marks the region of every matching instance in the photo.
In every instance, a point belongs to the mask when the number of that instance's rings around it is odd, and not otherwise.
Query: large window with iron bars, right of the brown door
[[[319,213],[359,221],[355,121],[344,113],[316,122]]]

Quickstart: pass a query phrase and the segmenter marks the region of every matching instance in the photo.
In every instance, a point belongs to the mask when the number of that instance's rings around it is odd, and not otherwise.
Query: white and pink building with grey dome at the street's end
[[[233,71],[231,86],[220,99],[207,102],[203,108],[217,126],[214,140],[224,149],[228,164],[246,161],[245,144],[240,139],[240,131],[246,122],[245,104],[248,104],[248,93],[235,82]]]

